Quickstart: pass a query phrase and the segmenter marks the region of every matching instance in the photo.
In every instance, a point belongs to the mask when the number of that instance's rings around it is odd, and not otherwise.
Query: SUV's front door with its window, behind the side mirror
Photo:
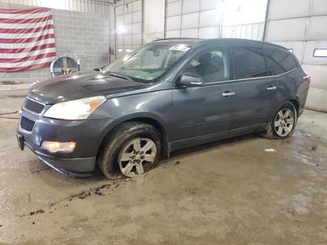
[[[172,149],[229,135],[237,92],[229,57],[227,47],[199,51],[177,76],[178,81],[184,72],[200,75],[204,86],[181,87],[175,83]]]

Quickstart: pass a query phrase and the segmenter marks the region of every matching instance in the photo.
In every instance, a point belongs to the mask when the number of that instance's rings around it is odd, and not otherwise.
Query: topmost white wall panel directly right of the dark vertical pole
[[[307,16],[309,1],[302,0],[271,0],[270,19],[281,19]]]

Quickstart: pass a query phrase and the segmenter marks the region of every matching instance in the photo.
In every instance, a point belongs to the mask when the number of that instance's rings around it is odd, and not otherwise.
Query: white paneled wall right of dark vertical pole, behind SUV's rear
[[[271,0],[266,40],[289,49],[311,76],[307,108],[327,112],[327,57],[314,57],[327,48],[326,0]]]

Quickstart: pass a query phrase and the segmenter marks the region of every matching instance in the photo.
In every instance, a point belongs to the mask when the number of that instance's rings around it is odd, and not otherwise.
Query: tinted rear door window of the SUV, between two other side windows
[[[250,47],[232,47],[236,79],[267,76],[265,58],[261,50]]]

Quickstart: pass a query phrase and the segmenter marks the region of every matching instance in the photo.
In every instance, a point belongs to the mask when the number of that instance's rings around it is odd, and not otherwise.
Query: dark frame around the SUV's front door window
[[[216,83],[225,83],[225,82],[233,82],[235,81],[235,68],[233,65],[233,60],[232,60],[232,55],[231,55],[231,51],[230,51],[230,46],[227,45],[222,45],[222,46],[205,46],[205,47],[199,47],[199,49],[194,50],[195,52],[192,54],[192,56],[189,56],[187,58],[187,62],[185,63],[185,65],[183,65],[183,67],[181,67],[181,69],[178,71],[178,74],[176,75],[175,79],[174,79],[174,86],[177,86],[176,82],[178,83],[178,80],[180,80],[181,76],[185,73],[184,69],[191,63],[191,61],[199,56],[200,54],[204,54],[206,52],[211,52],[214,50],[222,50],[225,49],[227,56],[228,56],[228,66],[229,66],[229,79],[228,80],[223,80],[223,81],[217,81],[217,82],[205,82],[204,86],[206,85],[211,85],[211,84],[216,84]]]

